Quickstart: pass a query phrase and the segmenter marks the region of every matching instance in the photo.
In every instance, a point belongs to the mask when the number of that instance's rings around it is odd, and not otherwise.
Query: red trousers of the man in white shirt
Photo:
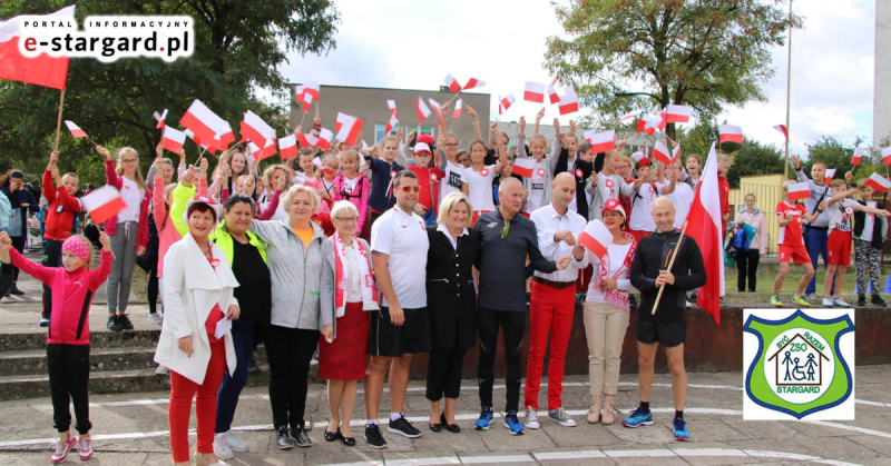
[[[548,409],[562,406],[564,366],[572,317],[576,314],[576,288],[556,289],[532,281],[532,298],[529,310],[529,359],[526,364],[526,407],[538,410],[538,390],[541,370],[550,334],[550,359],[548,360]]]

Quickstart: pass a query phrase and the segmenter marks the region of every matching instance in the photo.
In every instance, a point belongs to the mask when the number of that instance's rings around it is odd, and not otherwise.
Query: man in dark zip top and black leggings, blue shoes
[[[480,232],[482,252],[478,269],[480,363],[479,385],[482,413],[476,428],[484,430],[492,423],[492,384],[499,327],[505,331],[505,356],[508,361],[507,415],[505,427],[511,434],[522,434],[517,418],[520,403],[520,348],[526,334],[526,256],[529,266],[546,274],[565,269],[571,256],[556,261],[547,260],[538,249],[536,224],[518,215],[522,208],[522,184],[506,178],[498,189],[501,205],[498,210],[483,214],[474,228]]]

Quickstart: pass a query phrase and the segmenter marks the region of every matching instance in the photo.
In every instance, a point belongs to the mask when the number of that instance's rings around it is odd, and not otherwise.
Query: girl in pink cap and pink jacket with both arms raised
[[[90,443],[89,399],[90,369],[89,309],[96,289],[111,271],[111,246],[108,235],[101,234],[102,254],[99,268],[92,265],[92,245],[76,235],[62,244],[62,267],[45,267],[25,258],[12,248],[12,240],[0,232],[0,262],[12,264],[21,271],[47,284],[52,290],[52,314],[47,330],[47,368],[52,396],[52,419],[59,432],[59,444],[52,463],[61,463],[77,445],[80,459],[92,456]],[[79,436],[70,435],[71,414],[68,399],[75,405]]]

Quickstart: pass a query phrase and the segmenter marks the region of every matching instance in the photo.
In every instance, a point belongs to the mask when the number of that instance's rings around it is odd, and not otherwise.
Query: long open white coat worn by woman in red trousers
[[[214,308],[225,313],[229,305],[238,306],[233,289],[238,281],[223,249],[210,242],[214,258],[219,259],[216,270],[192,234],[175,242],[164,256],[164,325],[160,330],[155,363],[164,365],[183,377],[200,385],[210,361],[210,340],[204,323]],[[179,349],[179,338],[192,336],[193,355]],[[226,346],[226,365],[235,374],[235,347],[232,331],[223,337]]]

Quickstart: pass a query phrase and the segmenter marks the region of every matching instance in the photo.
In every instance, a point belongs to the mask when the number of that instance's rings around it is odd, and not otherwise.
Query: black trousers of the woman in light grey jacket
[[[319,344],[319,330],[273,325],[266,338],[270,361],[270,404],[275,428],[303,427],[310,360]]]

